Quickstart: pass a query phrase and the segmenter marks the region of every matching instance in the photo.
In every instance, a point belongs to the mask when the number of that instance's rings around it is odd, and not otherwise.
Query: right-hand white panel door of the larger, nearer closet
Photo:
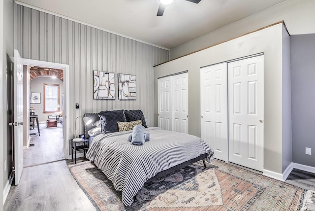
[[[229,161],[263,171],[263,56],[228,63]]]

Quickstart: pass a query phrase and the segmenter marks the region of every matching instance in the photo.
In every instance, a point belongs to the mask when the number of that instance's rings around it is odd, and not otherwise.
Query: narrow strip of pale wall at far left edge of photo
[[[3,210],[3,188],[7,182],[7,171],[4,170],[4,161],[7,160],[6,144],[6,56],[8,55],[13,61],[14,52],[14,1],[0,0],[0,211]]]

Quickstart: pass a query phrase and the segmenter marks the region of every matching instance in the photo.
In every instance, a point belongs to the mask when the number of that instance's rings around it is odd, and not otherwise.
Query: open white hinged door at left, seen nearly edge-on
[[[23,171],[23,62],[17,50],[14,50],[14,168],[15,185],[20,181]]]

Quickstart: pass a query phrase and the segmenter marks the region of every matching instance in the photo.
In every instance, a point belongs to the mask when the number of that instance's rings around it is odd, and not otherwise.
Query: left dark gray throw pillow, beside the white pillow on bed
[[[101,120],[102,133],[118,132],[117,122],[126,122],[124,110],[106,110],[98,113]]]

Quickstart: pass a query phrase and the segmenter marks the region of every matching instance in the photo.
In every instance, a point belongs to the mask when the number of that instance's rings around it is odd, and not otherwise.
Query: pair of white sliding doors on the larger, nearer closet
[[[263,171],[263,83],[263,56],[201,68],[201,138],[215,158]]]

